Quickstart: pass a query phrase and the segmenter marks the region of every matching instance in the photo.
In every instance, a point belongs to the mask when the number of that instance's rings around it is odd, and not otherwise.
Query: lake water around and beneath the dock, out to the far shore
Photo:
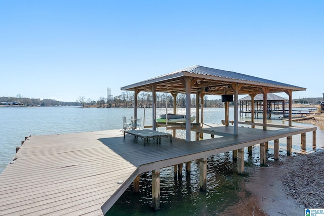
[[[168,112],[172,112],[169,109]],[[178,113],[184,114],[179,108]],[[156,111],[157,116],[165,114],[166,109]],[[16,147],[27,136],[63,134],[118,129],[123,125],[121,116],[130,118],[133,108],[79,108],[79,107],[34,107],[34,108],[0,108],[0,172],[14,158]],[[195,108],[192,109],[195,115]],[[144,116],[144,109],[138,109],[138,117]],[[145,125],[152,125],[152,109],[145,109]],[[230,108],[230,119],[233,119],[233,108]],[[204,108],[205,123],[221,123],[224,108]],[[239,117],[239,120],[250,120]],[[262,122],[262,118],[256,119]],[[268,120],[269,123],[282,123],[280,119]],[[288,124],[288,122],[285,122]],[[293,125],[305,125],[293,122]],[[143,126],[143,122],[142,122]],[[247,126],[247,125],[245,125]],[[165,131],[162,127],[159,131]],[[184,138],[185,132],[177,132],[177,137]],[[210,136],[205,135],[204,139]],[[191,138],[194,139],[194,133]],[[324,128],[317,127],[317,148],[323,146]],[[313,151],[312,134],[307,133],[306,153]],[[279,140],[280,160],[287,157],[286,139]],[[247,152],[247,150],[246,150]],[[258,166],[259,146],[254,146],[252,157],[245,154],[245,166]],[[293,137],[293,152],[300,153],[300,136]],[[273,160],[273,142],[269,142],[268,160]],[[173,167],[161,169],[160,191],[161,210],[154,215],[230,215],[237,209],[244,208],[242,196],[249,196],[244,189],[244,176],[235,174],[236,163],[232,162],[231,152],[208,157],[207,191],[199,190],[199,167],[197,161],[191,163],[191,174],[186,176],[185,165],[182,179],[174,179]],[[133,192],[133,186],[120,197],[109,210],[109,215],[152,215],[151,176],[150,172],[141,175],[139,193]],[[243,195],[242,195],[243,194]]]

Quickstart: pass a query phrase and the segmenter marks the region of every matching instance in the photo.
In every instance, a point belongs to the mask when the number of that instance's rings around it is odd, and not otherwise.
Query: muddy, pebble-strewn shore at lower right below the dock
[[[266,215],[304,215],[304,208],[324,208],[323,160],[324,149],[317,149],[267,161],[268,167],[247,167],[246,187]]]

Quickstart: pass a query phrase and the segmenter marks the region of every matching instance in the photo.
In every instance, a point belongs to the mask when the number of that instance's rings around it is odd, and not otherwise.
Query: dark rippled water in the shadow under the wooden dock
[[[251,157],[245,166],[257,166]],[[160,170],[160,209],[151,207],[151,172],[140,175],[140,192],[133,184],[110,208],[106,215],[266,215],[257,199],[245,188],[249,174],[238,175],[231,153],[207,158],[207,190],[199,188],[199,162],[191,162],[186,175],[185,164],[180,179],[174,177],[174,167]]]

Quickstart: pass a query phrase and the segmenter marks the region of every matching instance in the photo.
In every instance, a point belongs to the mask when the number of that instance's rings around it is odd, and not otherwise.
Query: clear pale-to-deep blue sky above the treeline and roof
[[[323,11],[323,1],[0,1],[0,96],[97,101],[197,64],[322,97]]]

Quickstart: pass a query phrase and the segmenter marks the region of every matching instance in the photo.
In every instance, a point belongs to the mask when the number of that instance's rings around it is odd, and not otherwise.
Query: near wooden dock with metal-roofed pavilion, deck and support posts
[[[260,144],[260,165],[266,165],[266,143],[274,141],[275,159],[279,159],[279,139],[287,138],[287,155],[292,153],[292,137],[301,135],[301,146],[306,148],[306,133],[313,136],[316,145],[316,127],[292,126],[292,93],[306,89],[291,84],[262,79],[231,71],[194,65],[175,72],[140,81],[121,88],[135,92],[134,118],[137,118],[137,96],[141,91],[152,92],[152,131],[156,131],[156,93],[170,93],[174,97],[186,95],[185,139],[175,136],[143,145],[134,136],[119,129],[111,131],[26,137],[18,152],[0,175],[0,214],[71,214],[102,215],[121,194],[134,184],[139,190],[139,174],[152,171],[152,207],[160,208],[160,169],[175,166],[190,172],[193,160],[199,160],[199,185],[206,190],[207,157],[233,151],[237,172],[244,173],[244,148]],[[238,95],[263,94],[267,104],[268,93],[285,92],[289,96],[289,124],[272,125],[238,121]],[[195,126],[190,122],[190,96],[196,96]],[[225,125],[204,123],[204,96],[222,95],[225,100]],[[232,99],[231,99],[232,98]],[[233,100],[234,122],[229,125],[229,102]],[[200,110],[199,110],[200,107]],[[266,107],[264,109],[266,111]],[[253,110],[252,110],[253,113]],[[266,113],[263,113],[266,116]],[[244,127],[239,126],[244,125]],[[260,128],[254,128],[261,126]],[[195,141],[191,131],[196,133]],[[218,136],[203,139],[205,135]],[[251,136],[253,134],[253,136]],[[250,149],[249,149],[250,151]],[[181,172],[178,172],[181,175]]]

